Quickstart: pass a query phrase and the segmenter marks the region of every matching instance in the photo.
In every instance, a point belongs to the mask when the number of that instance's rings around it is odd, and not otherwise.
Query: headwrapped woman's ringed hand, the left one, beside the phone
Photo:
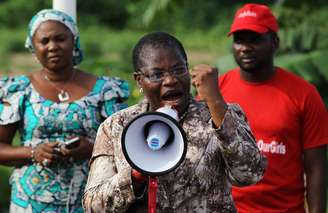
[[[59,155],[56,152],[58,144],[58,142],[55,142],[37,145],[33,149],[33,159],[35,163],[39,163],[43,166],[50,166],[53,164],[59,158]]]

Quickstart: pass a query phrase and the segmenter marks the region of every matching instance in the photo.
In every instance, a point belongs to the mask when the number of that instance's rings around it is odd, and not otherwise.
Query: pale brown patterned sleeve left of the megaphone
[[[98,129],[90,161],[83,196],[85,212],[124,212],[136,199],[132,188],[131,168],[115,162],[117,156],[114,154],[113,140],[118,140],[119,137],[111,134],[115,129],[113,123],[116,122],[111,117],[108,119],[108,125],[103,123]]]

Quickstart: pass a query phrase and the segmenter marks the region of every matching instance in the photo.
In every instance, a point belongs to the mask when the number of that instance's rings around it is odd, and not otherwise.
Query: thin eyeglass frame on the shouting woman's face
[[[143,72],[141,69],[138,69],[137,72],[134,72],[135,75],[143,75],[145,78],[147,78],[150,82],[152,83],[160,83],[164,80],[164,78],[167,76],[167,75],[171,75],[171,76],[174,76],[174,77],[180,77],[180,76],[183,76],[183,75],[186,75],[188,73],[188,63],[185,63],[183,65],[178,65],[178,66],[173,66],[175,68],[170,68],[170,69],[157,69],[157,70],[160,70],[158,73],[162,73],[162,76],[160,78],[157,78],[157,79],[154,79],[154,78],[151,78],[151,75]],[[180,74],[175,74],[174,70],[178,70],[178,69],[184,69],[184,72],[183,73],[180,73]],[[173,72],[172,72],[173,70]]]

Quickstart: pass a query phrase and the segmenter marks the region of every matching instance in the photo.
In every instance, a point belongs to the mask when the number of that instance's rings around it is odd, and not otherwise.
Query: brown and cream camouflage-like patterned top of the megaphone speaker
[[[146,111],[148,103],[143,101],[109,117],[98,129],[83,198],[86,212],[125,212],[136,201],[121,134],[130,120]],[[231,184],[256,183],[267,163],[244,112],[238,105],[229,105],[216,129],[206,105],[192,100],[182,126],[188,140],[186,158],[173,172],[158,178],[156,211],[236,212]],[[147,203],[143,204],[133,212],[147,212]]]

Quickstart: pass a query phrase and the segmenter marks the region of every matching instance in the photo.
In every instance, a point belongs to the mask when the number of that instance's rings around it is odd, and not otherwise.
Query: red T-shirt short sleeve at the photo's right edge
[[[328,113],[314,86],[307,94],[302,109],[303,148],[309,149],[328,144]]]

